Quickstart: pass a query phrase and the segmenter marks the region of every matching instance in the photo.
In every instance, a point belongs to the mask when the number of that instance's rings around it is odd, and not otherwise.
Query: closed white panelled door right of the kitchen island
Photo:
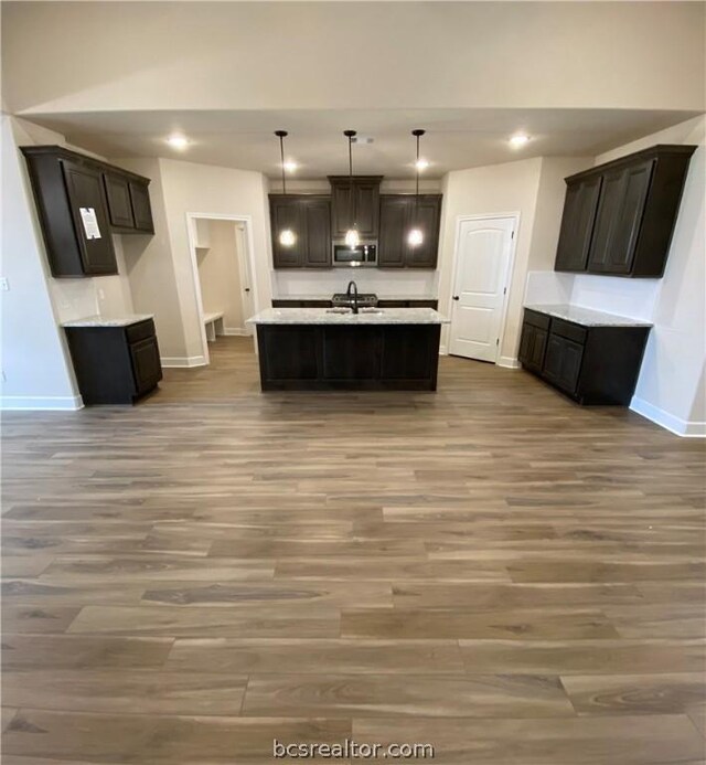
[[[456,254],[449,353],[498,360],[514,217],[462,221]]]

